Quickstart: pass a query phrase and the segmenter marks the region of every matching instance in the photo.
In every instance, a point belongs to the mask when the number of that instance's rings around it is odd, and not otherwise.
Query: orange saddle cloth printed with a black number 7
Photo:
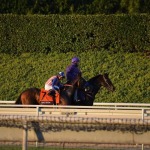
[[[60,103],[60,94],[59,92],[55,92],[54,96],[49,94],[49,91],[45,89],[41,89],[40,92],[40,104],[41,105],[58,105]]]

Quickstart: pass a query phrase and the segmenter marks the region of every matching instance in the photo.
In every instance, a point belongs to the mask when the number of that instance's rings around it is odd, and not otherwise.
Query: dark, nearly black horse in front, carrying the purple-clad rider
[[[82,105],[82,106],[92,106],[95,100],[95,95],[101,89],[101,87],[105,87],[108,91],[113,92],[115,90],[114,85],[108,77],[108,74],[97,75],[88,81],[83,78],[80,79],[80,87],[79,87],[79,101],[74,101],[72,99],[72,105]]]

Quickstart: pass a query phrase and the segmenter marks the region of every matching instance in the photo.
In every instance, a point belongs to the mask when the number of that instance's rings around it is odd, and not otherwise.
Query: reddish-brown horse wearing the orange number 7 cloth
[[[58,105],[70,105],[72,94],[77,86],[79,78],[73,82],[69,82],[64,84],[62,90],[60,90],[60,103]],[[23,91],[18,99],[16,100],[15,104],[22,104],[22,105],[39,105],[40,104],[40,92],[41,89],[39,88],[29,88]]]

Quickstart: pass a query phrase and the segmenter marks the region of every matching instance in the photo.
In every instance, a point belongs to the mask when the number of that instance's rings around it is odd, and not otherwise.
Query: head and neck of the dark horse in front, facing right
[[[90,84],[92,84],[93,86],[97,87],[97,89],[100,88],[101,86],[103,86],[106,89],[108,89],[109,91],[115,90],[115,87],[112,84],[111,80],[109,79],[107,73],[105,73],[104,75],[99,74],[99,75],[91,78],[88,82]]]

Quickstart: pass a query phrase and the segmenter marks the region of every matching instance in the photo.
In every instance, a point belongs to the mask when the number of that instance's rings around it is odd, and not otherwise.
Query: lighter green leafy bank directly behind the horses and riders
[[[113,93],[102,87],[95,101],[150,103],[149,57],[143,53],[112,54],[106,51],[0,54],[0,99],[16,100],[26,88],[44,88],[47,79],[65,71],[75,55],[81,60],[80,68],[85,79],[107,72],[116,87]]]

